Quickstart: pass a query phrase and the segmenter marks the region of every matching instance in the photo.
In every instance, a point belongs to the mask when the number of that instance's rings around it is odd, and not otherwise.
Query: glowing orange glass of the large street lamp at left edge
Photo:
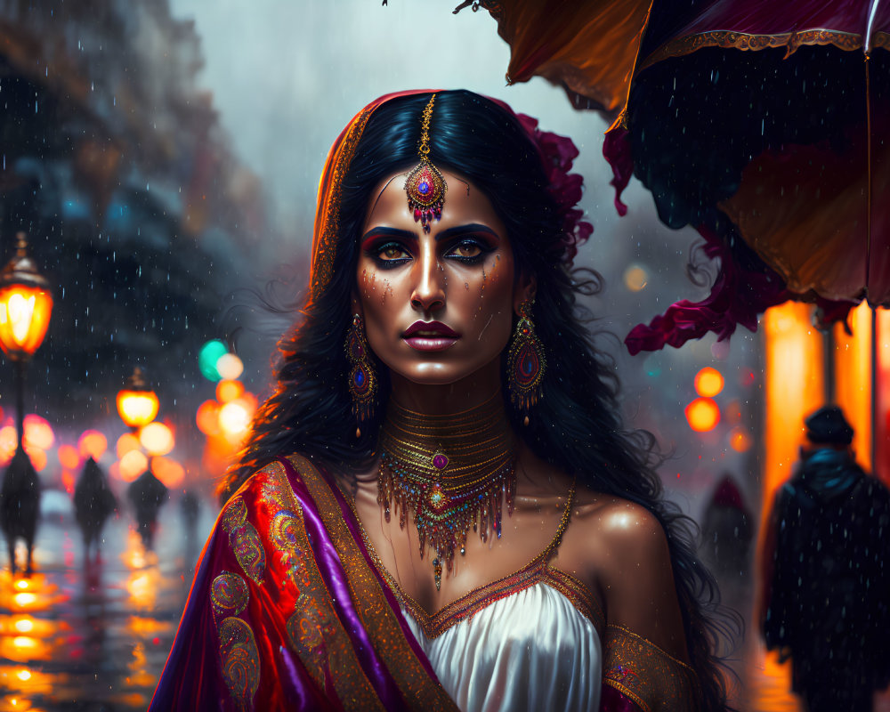
[[[44,342],[53,297],[40,287],[12,284],[0,289],[0,347],[12,360],[27,358]]]

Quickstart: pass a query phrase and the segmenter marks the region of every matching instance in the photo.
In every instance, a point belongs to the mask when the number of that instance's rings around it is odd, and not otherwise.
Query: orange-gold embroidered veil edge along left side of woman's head
[[[328,157],[328,163],[322,175],[328,173],[328,166],[331,167],[328,176],[328,190],[324,190],[325,183],[322,182],[319,189],[319,210],[318,219],[321,223],[320,230],[316,231],[314,244],[312,245],[312,299],[318,299],[325,287],[328,287],[331,277],[334,273],[334,258],[336,257],[336,241],[340,231],[340,195],[343,191],[343,182],[349,166],[352,165],[352,158],[355,156],[355,150],[359,146],[361,134],[365,131],[365,125],[368,118],[373,113],[376,106],[371,109],[364,109],[361,113],[352,119],[350,124],[344,131],[343,140],[331,150]]]

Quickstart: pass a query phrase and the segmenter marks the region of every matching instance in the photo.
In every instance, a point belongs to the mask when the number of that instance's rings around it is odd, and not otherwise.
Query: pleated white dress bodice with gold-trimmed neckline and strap
[[[550,546],[510,576],[431,616],[398,587],[412,633],[462,712],[595,712],[603,616],[589,589],[549,566],[568,525],[566,506]]]

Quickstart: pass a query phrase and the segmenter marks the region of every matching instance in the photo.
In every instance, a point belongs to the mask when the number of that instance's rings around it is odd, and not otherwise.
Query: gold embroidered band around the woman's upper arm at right
[[[695,670],[623,626],[606,627],[603,684],[634,700],[643,712],[695,712],[701,707]]]

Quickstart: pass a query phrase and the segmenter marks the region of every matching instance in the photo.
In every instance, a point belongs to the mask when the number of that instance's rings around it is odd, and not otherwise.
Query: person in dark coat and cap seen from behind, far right
[[[890,679],[890,493],[856,465],[841,409],[805,423],[767,524],[761,625],[810,712],[870,712]]]

